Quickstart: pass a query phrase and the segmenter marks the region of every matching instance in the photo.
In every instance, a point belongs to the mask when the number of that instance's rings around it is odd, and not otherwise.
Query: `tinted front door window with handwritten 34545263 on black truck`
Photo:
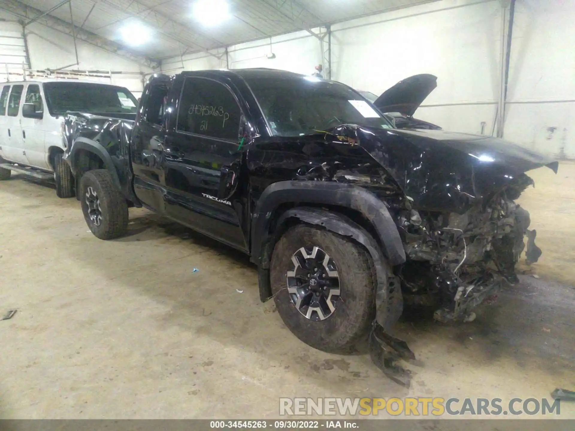
[[[210,79],[186,78],[178,131],[237,141],[241,111],[231,91]]]

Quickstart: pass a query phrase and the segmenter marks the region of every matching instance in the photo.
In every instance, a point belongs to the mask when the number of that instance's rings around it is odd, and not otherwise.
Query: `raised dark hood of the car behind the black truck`
[[[409,76],[384,91],[373,104],[382,112],[398,112],[412,117],[435,87],[437,87],[437,76],[430,74]]]

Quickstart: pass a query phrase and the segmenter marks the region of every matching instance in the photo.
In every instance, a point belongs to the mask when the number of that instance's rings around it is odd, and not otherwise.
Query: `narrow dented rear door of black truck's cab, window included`
[[[152,78],[148,83],[130,139],[134,192],[144,205],[158,213],[165,210],[163,144],[166,137],[164,114],[169,88],[168,76]]]

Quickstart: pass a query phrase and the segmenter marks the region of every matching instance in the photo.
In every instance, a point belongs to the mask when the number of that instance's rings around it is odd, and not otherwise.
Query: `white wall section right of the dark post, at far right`
[[[574,22],[573,1],[517,0],[504,134],[569,159],[575,159]]]

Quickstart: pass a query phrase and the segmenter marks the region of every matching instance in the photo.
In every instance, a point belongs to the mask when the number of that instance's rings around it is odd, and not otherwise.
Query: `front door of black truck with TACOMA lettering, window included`
[[[242,111],[230,87],[187,77],[164,144],[166,213],[241,250],[240,202],[218,199],[220,170],[237,160]]]

